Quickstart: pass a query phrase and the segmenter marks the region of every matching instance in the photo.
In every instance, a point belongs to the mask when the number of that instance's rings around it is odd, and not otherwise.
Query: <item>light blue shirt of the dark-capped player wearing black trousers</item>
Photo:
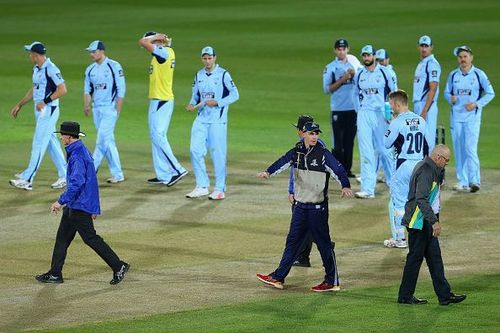
[[[330,85],[339,80],[344,74],[352,68],[356,70],[354,66],[347,61],[339,60],[335,58],[334,61],[326,65],[323,71],[323,91],[325,94],[330,95],[330,110],[331,111],[351,111],[354,110],[354,104],[352,100],[352,91],[354,89],[354,83],[352,79],[343,82],[340,87],[334,92],[330,91]]]

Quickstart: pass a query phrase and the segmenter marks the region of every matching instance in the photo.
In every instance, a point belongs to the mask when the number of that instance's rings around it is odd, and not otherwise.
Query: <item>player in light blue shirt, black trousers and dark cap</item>
[[[356,68],[349,62],[349,43],[338,39],[334,44],[336,58],[323,71],[323,92],[330,95],[332,153],[347,171],[352,173],[352,151],[356,136],[356,111],[352,100],[353,77]]]

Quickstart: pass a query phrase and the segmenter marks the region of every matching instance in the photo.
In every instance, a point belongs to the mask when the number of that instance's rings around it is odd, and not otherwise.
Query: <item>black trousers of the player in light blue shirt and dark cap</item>
[[[333,156],[351,174],[352,150],[357,131],[356,111],[332,111]]]

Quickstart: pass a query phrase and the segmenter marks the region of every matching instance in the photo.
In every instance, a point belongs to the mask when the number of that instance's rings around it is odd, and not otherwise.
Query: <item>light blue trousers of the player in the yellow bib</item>
[[[149,136],[156,178],[169,181],[186,169],[177,161],[167,140],[168,126],[174,111],[174,101],[152,99],[149,103]]]

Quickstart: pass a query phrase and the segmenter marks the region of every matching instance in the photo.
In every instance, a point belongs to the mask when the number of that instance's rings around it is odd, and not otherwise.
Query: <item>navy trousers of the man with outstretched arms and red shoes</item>
[[[290,230],[286,238],[285,251],[283,252],[283,257],[278,268],[272,273],[272,277],[281,282],[285,281],[294,260],[300,252],[304,238],[309,231],[318,246],[321,260],[323,261],[325,282],[338,286],[340,281],[335,252],[332,249],[330,239],[327,203],[320,205],[295,204]]]

